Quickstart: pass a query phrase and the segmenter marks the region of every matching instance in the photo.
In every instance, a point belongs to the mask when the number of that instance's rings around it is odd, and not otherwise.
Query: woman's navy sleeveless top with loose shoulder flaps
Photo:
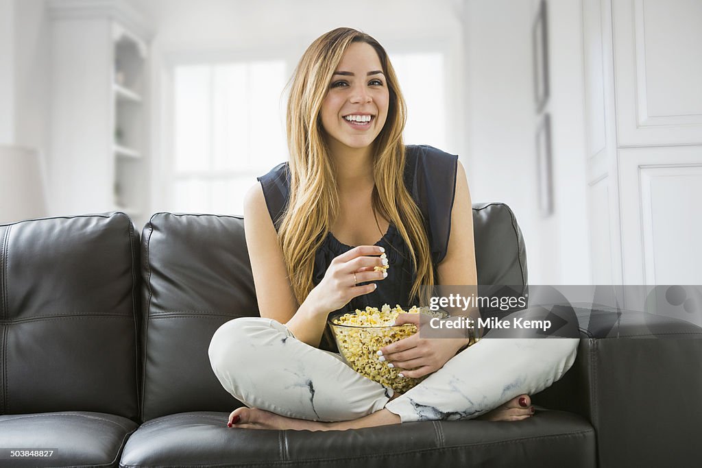
[[[436,273],[436,266],[444,260],[449,246],[458,156],[425,145],[408,145],[405,154],[404,184],[422,213],[430,243],[432,265],[434,265]],[[289,199],[290,173],[288,163],[275,166],[269,173],[260,176],[258,181],[263,187],[268,213],[270,213],[270,218],[277,231]],[[380,309],[383,304],[388,304],[390,307],[411,305],[409,292],[416,278],[416,272],[412,267],[409,249],[395,225],[390,223],[388,232],[375,245],[385,248],[385,255],[388,256],[390,265],[388,277],[383,281],[378,281],[378,288],[372,293],[354,297],[345,307],[340,309],[343,312],[365,309],[366,306]],[[329,232],[314,257],[314,270],[312,272],[314,286],[317,286],[324,278],[331,260],[352,248],[352,246],[338,241]],[[324,330],[319,347],[337,352],[329,326]]]

